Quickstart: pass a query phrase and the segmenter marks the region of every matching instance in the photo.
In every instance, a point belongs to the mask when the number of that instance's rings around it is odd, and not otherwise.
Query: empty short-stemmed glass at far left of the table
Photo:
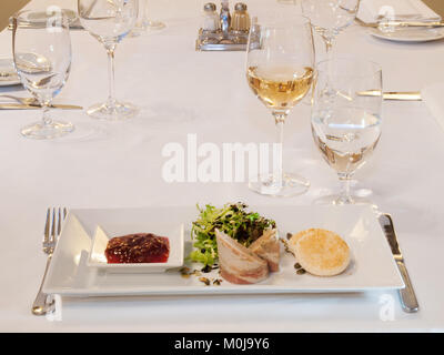
[[[21,130],[33,139],[53,139],[74,130],[70,122],[49,115],[52,99],[63,88],[71,68],[68,18],[62,11],[19,12],[13,18],[12,54],[23,87],[38,100],[43,120]]]

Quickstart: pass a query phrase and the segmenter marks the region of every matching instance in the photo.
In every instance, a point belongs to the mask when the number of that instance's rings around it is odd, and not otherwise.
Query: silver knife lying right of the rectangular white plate
[[[398,291],[401,305],[404,312],[415,313],[420,310],[420,305],[417,304],[416,295],[413,290],[412,282],[408,277],[407,268],[405,267],[404,257],[401,253],[401,248],[397,243],[397,237],[393,226],[392,216],[387,213],[381,214],[380,224],[384,230],[385,237],[389,241],[389,245],[392,250],[393,257],[396,262],[397,268],[400,270],[401,277],[403,278],[405,284],[405,287]]]

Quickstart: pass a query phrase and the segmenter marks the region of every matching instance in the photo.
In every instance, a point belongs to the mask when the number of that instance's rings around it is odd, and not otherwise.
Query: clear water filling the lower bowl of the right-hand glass
[[[315,112],[314,141],[337,173],[350,174],[372,154],[381,136],[381,119],[363,109],[341,108]]]

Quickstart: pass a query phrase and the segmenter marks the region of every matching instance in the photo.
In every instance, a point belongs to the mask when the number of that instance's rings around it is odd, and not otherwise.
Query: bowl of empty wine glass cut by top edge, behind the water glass
[[[360,0],[301,0],[301,6],[330,54],[336,36],[356,18]]]

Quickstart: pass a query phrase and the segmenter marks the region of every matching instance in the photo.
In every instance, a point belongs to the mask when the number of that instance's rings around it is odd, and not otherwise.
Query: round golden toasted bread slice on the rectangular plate
[[[349,266],[350,247],[334,232],[310,229],[293,235],[289,244],[296,261],[313,275],[333,276]]]

